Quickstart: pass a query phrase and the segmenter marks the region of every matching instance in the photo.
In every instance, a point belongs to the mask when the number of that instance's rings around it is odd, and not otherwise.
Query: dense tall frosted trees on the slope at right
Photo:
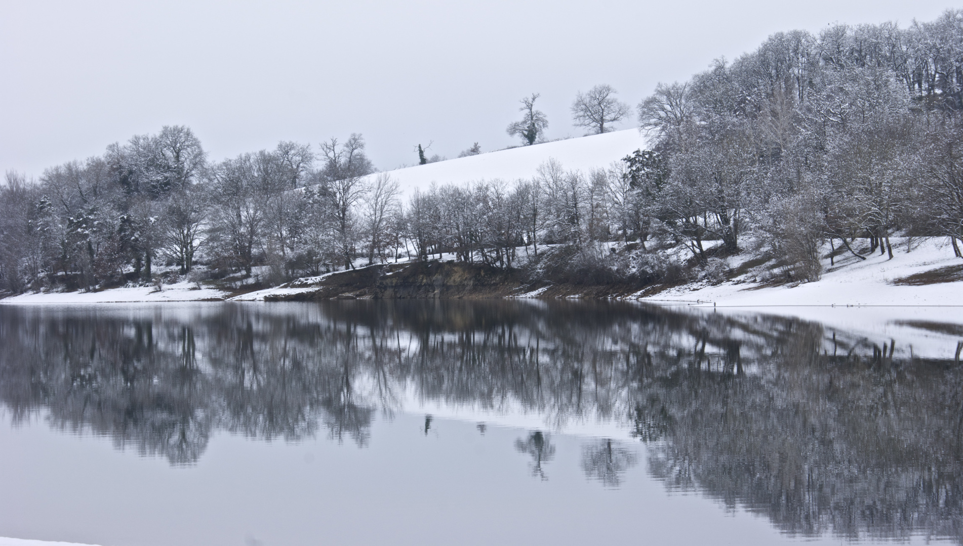
[[[702,259],[707,237],[732,252],[751,236],[801,279],[824,241],[892,258],[894,234],[948,236],[961,256],[961,89],[960,10],[773,35],[638,105],[655,137],[633,164],[644,215]]]

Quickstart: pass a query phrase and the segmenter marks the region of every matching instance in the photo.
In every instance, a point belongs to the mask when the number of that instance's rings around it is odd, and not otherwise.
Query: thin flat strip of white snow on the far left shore
[[[197,288],[194,283],[156,286],[124,286],[98,292],[32,292],[0,299],[0,304],[104,304],[135,302],[190,302],[223,299],[226,292],[217,288]],[[2,545],[0,545],[2,546]]]

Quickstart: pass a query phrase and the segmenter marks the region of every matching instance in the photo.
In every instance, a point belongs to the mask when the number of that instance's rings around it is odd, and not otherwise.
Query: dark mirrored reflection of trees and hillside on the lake
[[[649,472],[793,534],[963,537],[963,374],[819,324],[609,304],[0,308],[0,402],[192,464],[218,431],[366,445],[411,397],[615,422]],[[428,434],[430,416],[425,433]],[[480,425],[483,433],[483,425]],[[547,479],[549,432],[514,448]],[[586,443],[607,486],[636,464]]]

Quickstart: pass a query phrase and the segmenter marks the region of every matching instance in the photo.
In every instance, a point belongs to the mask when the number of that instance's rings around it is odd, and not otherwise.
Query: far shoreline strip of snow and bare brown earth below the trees
[[[963,307],[963,260],[946,241],[930,238],[892,260],[841,256],[825,260],[819,281],[776,284],[772,266],[746,268],[749,254],[727,259],[724,279],[682,285],[556,285],[526,280],[518,269],[459,261],[403,261],[336,271],[240,295],[187,281],[91,292],[35,292],[0,305],[133,304],[197,301],[316,301],[325,299],[583,299],[715,309]]]

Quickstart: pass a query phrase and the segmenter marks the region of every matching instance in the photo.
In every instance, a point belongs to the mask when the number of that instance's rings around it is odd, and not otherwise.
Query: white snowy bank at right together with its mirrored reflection
[[[639,301],[735,317],[748,318],[759,312],[793,316],[822,323],[827,335],[838,330],[862,335],[880,345],[895,339],[897,353],[903,356],[953,359],[957,342],[963,340],[960,336],[906,323],[963,325],[963,282],[920,286],[891,283],[938,267],[961,265],[963,260],[953,257],[946,239],[923,239],[909,253],[905,251],[906,239],[892,240],[893,260],[878,254],[866,261],[841,256],[835,266],[826,260],[822,278],[814,283],[759,288],[745,282],[746,277],[753,276],[748,273],[736,282],[679,286]],[[733,257],[730,265],[745,258]]]

